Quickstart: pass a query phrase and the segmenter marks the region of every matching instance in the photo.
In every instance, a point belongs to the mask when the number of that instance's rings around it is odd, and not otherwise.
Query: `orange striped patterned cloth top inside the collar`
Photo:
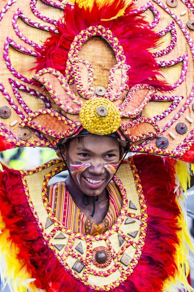
[[[115,223],[122,207],[122,197],[115,183],[109,183],[107,190],[109,192],[109,210],[102,223],[98,225],[88,219],[76,206],[65,182],[50,185],[49,205],[58,221],[66,228],[81,234],[101,234]]]

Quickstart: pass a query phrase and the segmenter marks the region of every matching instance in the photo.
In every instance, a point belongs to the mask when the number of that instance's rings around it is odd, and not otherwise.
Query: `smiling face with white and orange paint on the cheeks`
[[[88,196],[100,195],[118,167],[120,147],[108,136],[82,136],[65,146],[64,157],[79,189]]]

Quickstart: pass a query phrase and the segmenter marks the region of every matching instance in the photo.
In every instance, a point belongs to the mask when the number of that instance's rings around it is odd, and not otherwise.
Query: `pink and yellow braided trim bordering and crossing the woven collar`
[[[132,173],[133,173],[134,183],[136,185],[137,194],[139,196],[141,215],[135,216],[128,211],[129,201],[127,199],[126,190],[123,187],[122,182],[119,179],[117,179],[116,176],[114,176],[113,181],[114,181],[114,183],[116,183],[117,187],[120,189],[121,195],[123,197],[123,205],[122,205],[121,213],[120,213],[117,221],[115,222],[115,224],[108,231],[106,231],[103,234],[97,235],[97,236],[76,234],[72,230],[67,230],[67,228],[65,228],[65,226],[63,226],[55,218],[54,213],[53,213],[53,211],[50,208],[49,203],[48,203],[47,186],[48,186],[48,182],[52,176],[54,176],[56,173],[64,170],[64,165],[61,164],[61,165],[58,165],[56,168],[52,169],[48,173],[48,175],[46,175],[44,182],[43,182],[43,188],[42,188],[42,199],[43,199],[45,208],[48,212],[49,218],[54,224],[54,228],[51,230],[49,235],[47,235],[45,233],[44,228],[42,226],[42,223],[40,222],[40,220],[37,216],[37,213],[34,209],[34,206],[33,206],[33,203],[32,203],[31,197],[30,197],[29,189],[27,186],[26,175],[32,175],[32,174],[37,173],[43,169],[48,168],[49,166],[52,166],[52,165],[54,166],[54,164],[57,164],[60,162],[61,162],[61,160],[59,160],[59,159],[52,160],[49,163],[43,164],[41,167],[38,167],[36,169],[29,170],[29,171],[20,171],[20,173],[22,175],[22,182],[24,185],[26,198],[28,200],[32,214],[33,214],[35,220],[37,221],[38,227],[40,228],[40,231],[45,239],[45,243],[49,246],[51,251],[60,260],[60,262],[64,265],[65,269],[68,270],[70,274],[73,274],[74,277],[80,279],[81,282],[83,282],[85,285],[87,285],[91,289],[95,289],[97,291],[110,291],[111,289],[118,287],[120,285],[120,283],[124,282],[129,277],[129,275],[132,274],[134,268],[136,267],[136,265],[138,263],[138,260],[141,257],[142,249],[143,249],[144,244],[145,244],[146,228],[147,228],[146,202],[144,199],[140,178],[139,178],[139,175],[137,173],[137,168],[133,164],[133,160],[131,158],[125,160],[124,164],[129,164],[130,168],[132,170]],[[120,230],[120,227],[121,227],[122,223],[124,222],[124,219],[126,218],[126,216],[127,217],[130,216],[132,218],[137,218],[139,220],[141,219],[140,235],[139,235],[138,241],[131,240],[131,238],[128,235],[125,235]],[[58,231],[61,231],[66,236],[68,236],[63,255],[60,255],[59,252],[55,249],[54,245],[50,242],[50,239],[55,237],[55,235]],[[114,251],[111,240],[109,239],[109,237],[115,233],[117,233],[118,235],[122,236],[125,239],[125,243],[122,245],[122,247],[118,253],[116,253]],[[74,246],[76,239],[80,239],[80,240],[85,241],[85,243],[86,243],[86,256],[80,256],[73,249],[73,246]],[[114,261],[113,266],[107,271],[103,271],[103,270],[98,271],[98,270],[93,270],[91,268],[91,261],[92,261],[91,251],[93,249],[92,243],[94,241],[99,241],[99,243],[100,243],[101,240],[103,240],[103,242],[106,243],[107,248],[111,252],[112,258]],[[135,252],[135,255],[132,258],[131,262],[129,263],[128,268],[125,269],[120,262],[120,258],[130,246],[133,246],[136,249],[136,252]],[[66,263],[66,259],[68,258],[68,256],[71,256],[75,259],[78,259],[81,263],[84,264],[82,276],[79,276],[76,272],[74,272],[68,266],[68,264]],[[116,272],[117,270],[120,271],[121,275],[113,283],[99,287],[96,285],[91,285],[87,282],[90,274],[95,275],[95,276],[107,277],[108,275],[113,274],[113,272]]]

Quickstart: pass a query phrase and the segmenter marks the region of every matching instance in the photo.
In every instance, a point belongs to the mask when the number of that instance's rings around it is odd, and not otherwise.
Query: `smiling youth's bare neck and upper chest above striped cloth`
[[[93,197],[89,197],[90,203],[88,206],[85,206],[82,202],[84,193],[75,184],[70,175],[65,180],[65,183],[67,185],[67,190],[69,191],[74,203],[80,209],[80,211],[91,221],[96,222],[97,224],[102,223],[109,209],[109,195],[107,190],[104,189],[103,192],[98,196],[98,200],[95,201],[96,211],[94,216],[91,217],[93,212]],[[95,197],[95,199],[97,199],[97,197]]]

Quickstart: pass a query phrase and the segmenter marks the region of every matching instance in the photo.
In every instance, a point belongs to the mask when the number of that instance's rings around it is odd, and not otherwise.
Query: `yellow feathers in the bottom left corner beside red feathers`
[[[30,288],[35,292],[36,287],[31,283],[31,275],[28,274],[26,265],[17,259],[18,247],[9,239],[10,233],[0,215],[0,266],[2,268],[5,284],[10,284],[14,292],[24,292]]]

